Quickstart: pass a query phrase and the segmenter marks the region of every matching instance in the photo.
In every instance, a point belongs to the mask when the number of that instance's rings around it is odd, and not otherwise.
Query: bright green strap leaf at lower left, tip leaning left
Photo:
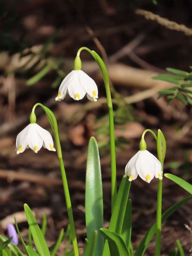
[[[27,204],[24,204],[24,210],[26,213],[28,225],[32,233],[33,241],[38,250],[38,253],[41,256],[50,256],[49,249],[47,247],[43,234],[41,233],[41,229],[39,228],[37,221],[30,207]]]

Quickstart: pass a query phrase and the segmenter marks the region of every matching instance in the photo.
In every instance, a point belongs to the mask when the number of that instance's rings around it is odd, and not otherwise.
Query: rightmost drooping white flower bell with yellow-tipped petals
[[[149,183],[154,177],[162,179],[162,165],[160,161],[147,150],[139,150],[125,167],[125,175],[132,181],[140,176]]]

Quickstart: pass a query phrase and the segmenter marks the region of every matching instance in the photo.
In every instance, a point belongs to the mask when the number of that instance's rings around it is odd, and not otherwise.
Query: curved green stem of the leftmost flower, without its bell
[[[53,130],[56,149],[57,149],[57,154],[58,154],[58,159],[59,159],[59,164],[60,164],[60,170],[61,170],[61,175],[62,175],[63,190],[64,190],[64,195],[65,195],[65,200],[66,200],[66,207],[67,207],[67,212],[68,212],[68,218],[69,218],[71,237],[72,237],[72,242],[73,242],[74,255],[79,256],[79,250],[78,250],[78,245],[77,245],[77,237],[76,237],[76,233],[75,233],[75,223],[74,223],[74,219],[73,219],[73,211],[72,211],[72,205],[71,205],[71,201],[70,201],[68,182],[67,182],[66,172],[65,172],[63,158],[62,158],[62,149],[61,149],[61,144],[60,144],[60,139],[59,139],[57,120],[56,120],[55,115],[53,114],[53,112],[41,103],[36,103],[34,105],[34,107],[32,109],[32,113],[34,113],[35,108],[37,106],[40,106],[40,107],[43,108],[43,110],[45,111],[45,113],[47,115],[47,118],[49,119],[49,123],[51,125],[51,128]]]

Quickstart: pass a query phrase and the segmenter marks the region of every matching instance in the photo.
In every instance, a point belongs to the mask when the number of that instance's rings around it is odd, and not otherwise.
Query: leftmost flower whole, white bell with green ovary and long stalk
[[[42,107],[43,110],[45,111],[47,118],[49,120],[49,123],[51,125],[54,138],[55,138],[60,170],[62,174],[62,183],[63,183],[64,195],[66,200],[74,255],[79,256],[72,205],[70,201],[70,194],[68,189],[68,183],[67,183],[66,172],[65,172],[63,158],[62,158],[62,150],[60,145],[59,133],[58,133],[58,124],[53,112],[41,103],[36,103],[34,105],[32,109],[32,113],[30,115],[30,124],[17,135],[17,139],[16,139],[17,154],[22,153],[28,146],[32,150],[34,150],[35,153],[37,153],[42,146],[46,147],[48,150],[55,151],[55,148],[53,147],[53,139],[51,137],[51,134],[47,130],[41,128],[41,126],[38,126],[38,124],[36,124],[36,115],[34,111],[37,106]],[[31,136],[32,133],[33,133],[33,136]]]

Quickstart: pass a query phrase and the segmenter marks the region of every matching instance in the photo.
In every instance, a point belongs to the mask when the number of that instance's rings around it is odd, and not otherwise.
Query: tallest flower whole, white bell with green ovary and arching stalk
[[[100,56],[91,51],[87,47],[81,47],[77,51],[77,56],[74,61],[74,70],[72,70],[62,81],[58,96],[55,100],[63,100],[68,93],[74,100],[81,100],[85,94],[87,98],[92,101],[97,101],[98,88],[94,80],[81,70],[80,53],[82,50],[88,51],[94,60],[97,62],[105,83],[105,90],[107,95],[107,105],[109,109],[109,131],[110,131],[110,147],[111,147],[111,208],[115,204],[117,195],[117,181],[116,181],[116,159],[115,159],[115,136],[114,136],[114,120],[113,120],[113,105],[111,100],[111,91],[109,85],[109,75],[105,63]]]

